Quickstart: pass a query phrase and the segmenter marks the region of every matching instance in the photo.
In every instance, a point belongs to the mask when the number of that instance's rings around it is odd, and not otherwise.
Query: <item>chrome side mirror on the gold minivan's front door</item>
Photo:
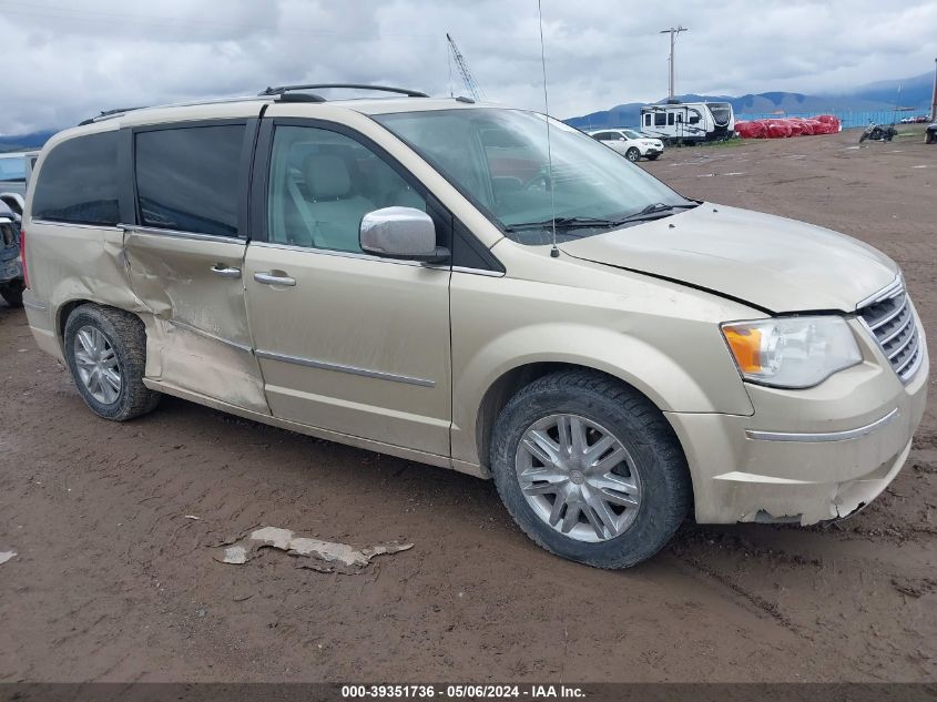
[[[384,207],[361,218],[361,251],[387,258],[442,263],[449,250],[436,245],[432,218],[415,207]]]

